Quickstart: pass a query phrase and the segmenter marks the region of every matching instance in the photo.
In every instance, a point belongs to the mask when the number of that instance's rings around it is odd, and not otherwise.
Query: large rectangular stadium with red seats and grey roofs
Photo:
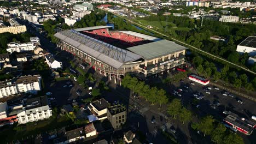
[[[183,65],[184,46],[132,31],[110,31],[110,26],[57,32],[57,46],[83,59],[93,69],[115,79],[127,73],[144,77]]]

